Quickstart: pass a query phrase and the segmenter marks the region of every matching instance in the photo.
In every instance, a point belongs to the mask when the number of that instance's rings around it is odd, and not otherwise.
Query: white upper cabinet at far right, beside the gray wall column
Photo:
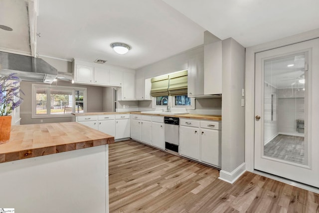
[[[204,45],[204,94],[222,94],[222,45],[215,41]]]

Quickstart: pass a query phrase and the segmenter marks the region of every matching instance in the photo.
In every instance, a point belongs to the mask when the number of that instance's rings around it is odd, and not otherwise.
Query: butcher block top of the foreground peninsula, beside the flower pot
[[[0,144],[0,163],[114,143],[114,137],[77,122],[11,127],[10,140]]]

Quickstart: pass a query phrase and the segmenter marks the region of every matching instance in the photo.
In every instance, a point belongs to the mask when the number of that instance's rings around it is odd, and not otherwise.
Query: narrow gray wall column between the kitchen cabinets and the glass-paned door
[[[245,48],[228,38],[222,52],[222,170],[231,173],[245,161]]]

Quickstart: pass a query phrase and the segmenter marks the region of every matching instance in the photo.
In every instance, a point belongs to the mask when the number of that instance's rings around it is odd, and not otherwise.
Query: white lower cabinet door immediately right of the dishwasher
[[[199,160],[199,128],[179,126],[179,154]]]

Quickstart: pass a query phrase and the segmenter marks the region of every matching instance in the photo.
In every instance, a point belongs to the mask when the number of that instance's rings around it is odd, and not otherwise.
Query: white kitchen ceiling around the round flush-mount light
[[[0,48],[28,51],[18,2],[0,0]],[[6,5],[13,2],[13,5]],[[248,47],[319,28],[318,0],[37,0],[36,52],[139,68],[199,46],[208,30]],[[12,6],[14,8],[12,8]],[[20,10],[19,10],[20,9]],[[20,12],[19,12],[20,11]],[[316,20],[316,21],[314,21]],[[4,41],[4,42],[3,42]],[[112,42],[132,49],[119,55]],[[25,48],[26,46],[26,48]],[[23,48],[23,49],[22,49]]]

